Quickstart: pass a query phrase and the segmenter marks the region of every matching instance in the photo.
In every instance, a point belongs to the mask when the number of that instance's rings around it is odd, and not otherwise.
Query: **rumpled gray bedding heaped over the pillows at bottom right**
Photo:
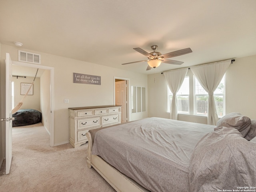
[[[256,143],[216,128],[196,145],[189,170],[191,192],[256,191]]]

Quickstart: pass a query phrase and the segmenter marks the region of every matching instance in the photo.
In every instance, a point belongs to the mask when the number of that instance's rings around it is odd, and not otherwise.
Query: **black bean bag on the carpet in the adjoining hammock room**
[[[35,109],[20,109],[12,114],[12,117],[14,117],[13,127],[32,125],[42,121],[41,112]]]

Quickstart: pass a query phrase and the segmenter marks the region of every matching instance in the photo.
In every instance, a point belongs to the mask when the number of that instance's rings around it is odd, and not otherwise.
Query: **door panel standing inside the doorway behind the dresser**
[[[115,84],[116,105],[121,106],[121,123],[127,122],[126,80],[117,81]]]

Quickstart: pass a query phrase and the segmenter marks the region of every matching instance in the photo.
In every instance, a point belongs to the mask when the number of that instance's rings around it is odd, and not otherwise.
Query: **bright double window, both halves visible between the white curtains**
[[[200,85],[196,77],[188,72],[180,90],[177,93],[178,113],[207,116],[208,93]],[[191,83],[189,82],[191,81]],[[194,80],[194,83],[193,83]],[[214,100],[219,117],[226,114],[225,111],[225,75],[223,76],[217,89],[214,91]],[[168,112],[172,102],[172,92],[168,87]]]

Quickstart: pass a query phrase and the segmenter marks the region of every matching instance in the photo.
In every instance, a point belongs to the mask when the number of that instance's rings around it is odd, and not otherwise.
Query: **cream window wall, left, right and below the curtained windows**
[[[226,72],[226,114],[240,112],[256,119],[256,55],[236,58]],[[148,75],[148,116],[169,118],[167,84],[161,73]],[[178,120],[207,123],[206,117],[178,115]]]

